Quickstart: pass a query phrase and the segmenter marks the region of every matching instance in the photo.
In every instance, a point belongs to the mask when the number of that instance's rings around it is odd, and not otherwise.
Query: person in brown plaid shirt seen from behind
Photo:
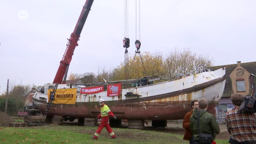
[[[230,144],[255,144],[256,143],[256,120],[255,114],[237,113],[244,96],[232,94],[231,101],[235,108],[225,115],[225,122],[230,134]]]

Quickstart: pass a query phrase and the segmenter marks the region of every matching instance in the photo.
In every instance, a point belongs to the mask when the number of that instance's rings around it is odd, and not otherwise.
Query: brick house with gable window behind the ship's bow
[[[210,67],[211,70],[217,70],[223,66]],[[216,106],[216,119],[218,123],[225,123],[224,116],[227,111],[234,106],[230,100],[233,93],[248,95],[252,93],[252,78],[254,84],[256,79],[256,62],[241,63],[237,61],[236,64],[226,65],[226,85],[223,95]],[[254,93],[254,91],[253,91]]]

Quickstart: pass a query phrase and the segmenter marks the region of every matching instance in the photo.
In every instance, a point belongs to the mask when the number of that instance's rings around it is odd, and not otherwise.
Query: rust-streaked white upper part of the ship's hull
[[[128,89],[123,89],[122,95],[119,96],[113,96],[113,97],[107,97],[107,91],[105,92],[99,92],[95,94],[80,94],[77,93],[76,97],[76,102],[91,102],[91,101],[99,101],[99,99],[104,99],[105,101],[112,101],[112,100],[127,100],[127,99],[135,99],[135,98],[144,98],[144,97],[150,97],[150,96],[155,96],[159,94],[165,94],[165,93],[170,93],[170,92],[175,92],[187,88],[191,88],[195,85],[198,84],[203,84],[206,82],[209,82],[211,80],[221,78],[225,75],[226,73],[226,68],[218,69],[215,71],[209,71],[209,72],[203,72],[199,74],[194,74],[190,76],[186,76],[183,78],[179,79],[174,79],[162,83],[157,83],[157,84],[151,84],[151,85],[146,85],[146,86],[141,86],[141,87],[134,87],[134,88],[128,88]],[[156,99],[156,100],[150,100],[150,101],[143,101],[146,103],[150,102],[172,102],[172,101],[190,101],[190,100],[195,100],[195,99],[201,99],[204,98],[208,101],[219,101],[224,88],[225,88],[225,83],[226,80],[223,80],[217,84],[214,84],[210,87],[204,88],[202,90],[196,91],[196,92],[191,92],[187,94],[182,94],[182,95],[177,95],[177,96],[172,96],[164,99]],[[60,84],[59,84],[60,86]],[[63,87],[68,87],[63,84],[61,87],[58,88],[63,88]],[[124,95],[127,92],[132,92],[133,94],[138,94],[139,96],[127,96],[125,97]],[[33,96],[33,98],[37,100],[47,100],[47,90],[45,89],[45,94],[36,92]],[[34,101],[35,104],[41,104],[39,102]]]

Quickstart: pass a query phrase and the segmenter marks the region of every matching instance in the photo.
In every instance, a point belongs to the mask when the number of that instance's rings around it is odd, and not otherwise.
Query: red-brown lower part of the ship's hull
[[[216,116],[215,107],[219,101],[208,101],[208,112]],[[107,104],[107,103],[106,103]],[[107,104],[108,105],[108,104]],[[44,113],[46,104],[38,104],[37,107]],[[183,119],[191,110],[190,101],[175,102],[150,102],[130,103],[125,105],[111,105],[108,107],[118,119],[147,119],[147,120],[178,120]],[[67,117],[97,117],[100,114],[100,106],[95,105],[61,105],[52,104],[48,115]]]

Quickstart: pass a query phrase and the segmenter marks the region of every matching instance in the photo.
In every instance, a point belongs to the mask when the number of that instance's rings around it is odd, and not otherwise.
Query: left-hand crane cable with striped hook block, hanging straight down
[[[128,79],[128,50],[127,48],[130,47],[130,39],[129,39],[129,25],[128,25],[128,0],[124,0],[124,39],[123,39],[123,47],[125,48],[124,52],[124,79]]]

